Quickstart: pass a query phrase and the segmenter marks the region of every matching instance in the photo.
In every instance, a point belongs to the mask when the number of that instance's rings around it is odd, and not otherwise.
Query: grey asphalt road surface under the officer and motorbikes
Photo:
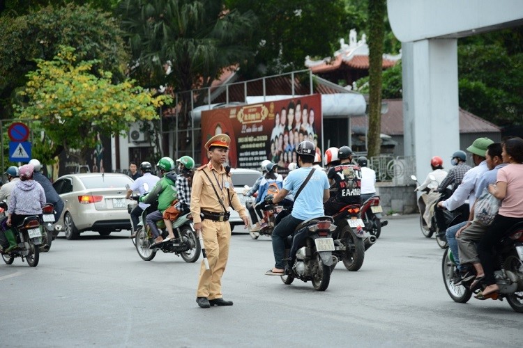
[[[241,228],[236,228],[241,230]],[[236,231],[235,231],[236,232]],[[325,292],[265,276],[271,239],[234,233],[222,279],[232,307],[195,302],[199,262],[139,258],[128,232],[59,236],[38,267],[0,264],[2,347],[522,347],[508,303],[455,303],[417,216],[391,219],[363,267]]]

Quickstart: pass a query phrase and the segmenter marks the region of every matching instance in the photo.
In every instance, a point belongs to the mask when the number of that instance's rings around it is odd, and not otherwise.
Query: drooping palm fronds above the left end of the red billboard
[[[118,13],[132,48],[133,78],[175,92],[211,86],[251,52],[255,17],[213,0],[123,0]],[[165,74],[169,68],[170,73]]]

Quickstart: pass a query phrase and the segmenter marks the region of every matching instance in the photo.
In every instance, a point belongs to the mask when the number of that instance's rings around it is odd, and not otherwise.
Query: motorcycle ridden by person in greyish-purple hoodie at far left
[[[0,203],[1,209],[7,209],[6,203]],[[4,230],[7,230],[7,219],[5,212],[0,213],[1,224]],[[9,253],[2,253],[3,262],[12,264],[15,258],[22,258],[30,267],[36,267],[40,260],[40,246],[42,243],[42,228],[40,226],[40,217],[38,215],[27,216],[20,226],[13,228],[18,248]]]

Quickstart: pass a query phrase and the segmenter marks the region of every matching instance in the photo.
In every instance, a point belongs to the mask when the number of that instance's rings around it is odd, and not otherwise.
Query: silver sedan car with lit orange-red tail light
[[[132,179],[119,173],[68,174],[59,177],[53,187],[65,203],[58,223],[67,239],[77,239],[84,231],[107,236],[130,230],[126,203],[126,184]]]

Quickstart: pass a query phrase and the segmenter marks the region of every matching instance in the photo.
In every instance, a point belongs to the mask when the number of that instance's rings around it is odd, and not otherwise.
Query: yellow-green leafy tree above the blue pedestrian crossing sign
[[[37,69],[29,72],[19,92],[27,102],[14,106],[15,116],[45,130],[50,149],[44,161],[62,150],[93,148],[97,134],[125,134],[130,122],[158,118],[157,108],[170,102],[170,97],[153,97],[132,80],[112,84],[111,72],[100,70],[101,77],[96,77],[96,63],[78,61],[75,49],[62,47],[52,61],[38,59]]]

